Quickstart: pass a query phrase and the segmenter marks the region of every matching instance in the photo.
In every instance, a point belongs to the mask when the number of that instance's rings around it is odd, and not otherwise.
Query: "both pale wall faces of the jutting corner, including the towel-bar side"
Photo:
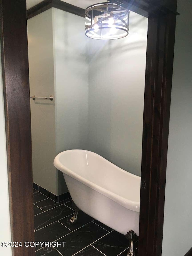
[[[84,18],[51,8],[28,20],[33,181],[53,194],[67,192],[55,155],[87,149],[88,39]]]

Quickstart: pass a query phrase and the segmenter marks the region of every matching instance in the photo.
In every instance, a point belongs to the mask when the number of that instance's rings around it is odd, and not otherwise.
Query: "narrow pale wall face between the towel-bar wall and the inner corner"
[[[84,18],[52,8],[56,154],[88,145],[88,38]],[[64,193],[62,173],[58,191]]]

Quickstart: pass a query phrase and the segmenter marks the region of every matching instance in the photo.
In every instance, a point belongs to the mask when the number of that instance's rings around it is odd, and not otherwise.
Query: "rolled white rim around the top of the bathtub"
[[[82,176],[80,176],[79,174],[74,173],[73,171],[71,171],[69,168],[67,168],[66,166],[64,166],[63,164],[61,164],[61,162],[59,161],[59,157],[61,155],[64,154],[64,152],[71,152],[71,151],[82,151],[82,152],[89,152],[91,154],[97,155],[100,158],[103,158],[105,161],[109,162],[111,165],[119,168],[121,171],[128,173],[131,176],[134,176],[135,178],[140,178],[137,175],[134,175],[132,173],[129,173],[123,169],[121,169],[120,167],[116,166],[115,164],[111,163],[110,161],[108,161],[107,159],[105,159],[104,157],[98,155],[97,153],[88,151],[88,150],[83,150],[83,149],[70,149],[70,150],[65,150],[61,153],[59,153],[58,155],[56,155],[55,159],[54,159],[54,166],[60,170],[61,172],[67,174],[68,176],[72,177],[73,179],[78,180],[79,182],[82,182],[84,185],[87,185],[89,188],[94,189],[95,191],[97,191],[98,193],[103,194],[104,196],[107,196],[108,198],[110,198],[111,200],[115,201],[116,203],[119,203],[121,206],[125,207],[126,209],[129,209],[131,211],[134,212],[140,212],[140,201],[132,201],[130,199],[127,199],[125,197],[119,196],[118,194],[115,194],[109,190],[107,190],[106,188],[103,188],[91,181],[89,181],[88,179],[83,178]],[[139,188],[140,189],[140,188]]]

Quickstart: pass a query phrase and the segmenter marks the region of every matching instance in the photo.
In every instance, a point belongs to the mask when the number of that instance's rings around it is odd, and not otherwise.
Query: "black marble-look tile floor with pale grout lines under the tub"
[[[33,193],[35,241],[66,242],[64,247],[36,247],[35,256],[127,256],[125,236],[84,212],[79,211],[77,223],[70,224],[71,199],[55,203],[35,189]]]

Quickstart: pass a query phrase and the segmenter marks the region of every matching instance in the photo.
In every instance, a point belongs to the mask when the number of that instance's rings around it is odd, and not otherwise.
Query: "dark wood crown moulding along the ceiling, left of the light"
[[[52,7],[78,15],[80,17],[85,17],[85,10],[82,8],[70,5],[61,0],[44,0],[38,5],[35,5],[34,7],[27,10],[27,19],[30,19]]]

